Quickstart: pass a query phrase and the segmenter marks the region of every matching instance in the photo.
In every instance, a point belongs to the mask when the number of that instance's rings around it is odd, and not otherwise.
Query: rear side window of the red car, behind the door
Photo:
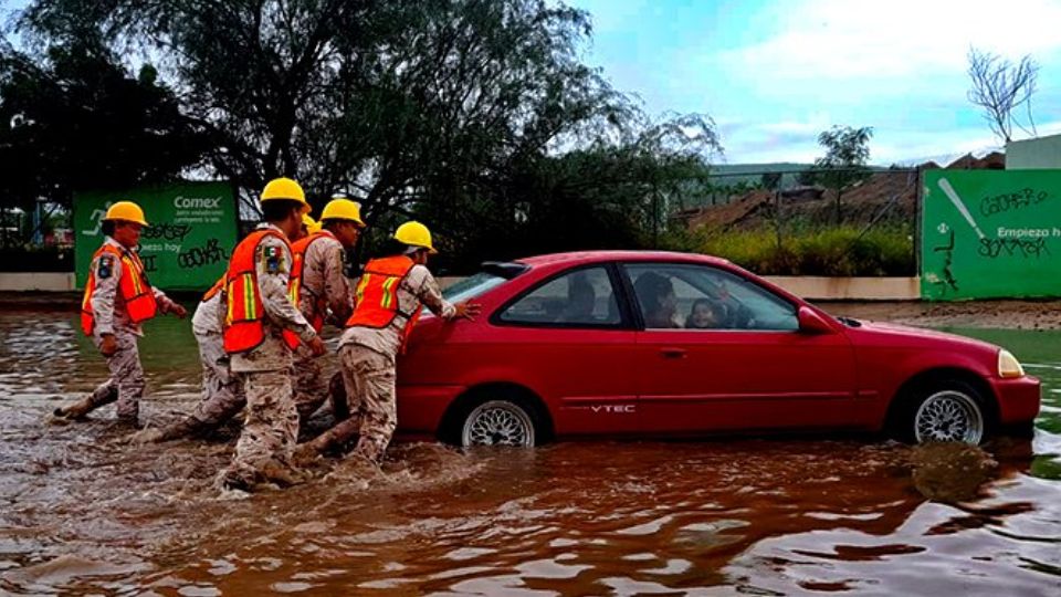
[[[508,305],[500,316],[505,323],[617,325],[622,321],[608,271],[585,268],[555,277]]]

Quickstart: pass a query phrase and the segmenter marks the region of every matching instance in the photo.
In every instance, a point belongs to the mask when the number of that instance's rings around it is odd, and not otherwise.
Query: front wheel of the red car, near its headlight
[[[948,379],[914,389],[900,421],[911,443],[959,441],[977,446],[988,436],[988,410],[971,385]]]

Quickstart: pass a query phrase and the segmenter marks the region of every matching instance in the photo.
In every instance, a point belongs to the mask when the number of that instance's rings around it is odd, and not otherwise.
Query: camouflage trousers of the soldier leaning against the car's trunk
[[[379,462],[398,427],[395,358],[348,344],[339,349],[350,418],[333,430],[339,443],[359,433],[354,453]]]

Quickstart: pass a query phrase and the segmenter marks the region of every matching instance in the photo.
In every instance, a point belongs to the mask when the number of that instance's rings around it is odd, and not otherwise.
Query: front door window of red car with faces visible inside
[[[623,269],[647,328],[799,329],[795,305],[724,270],[676,263]]]

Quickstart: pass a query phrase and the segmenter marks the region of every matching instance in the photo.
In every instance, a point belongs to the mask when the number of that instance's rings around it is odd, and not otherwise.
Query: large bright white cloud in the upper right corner
[[[1061,49],[1061,2],[809,0],[781,6],[779,32],[724,52],[738,76],[774,80],[873,78],[964,73],[970,45],[1040,60]]]

